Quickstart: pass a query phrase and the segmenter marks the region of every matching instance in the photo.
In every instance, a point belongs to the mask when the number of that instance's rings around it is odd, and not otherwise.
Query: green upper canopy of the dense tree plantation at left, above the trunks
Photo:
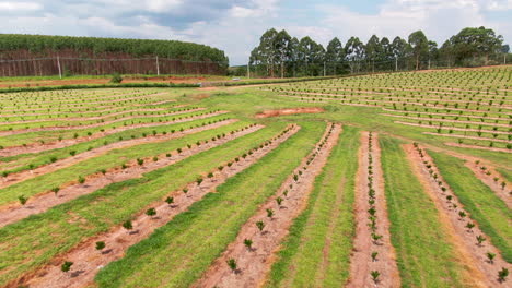
[[[216,62],[228,67],[224,51],[206,45],[176,40],[123,39],[46,35],[0,34],[0,59],[13,59],[18,51],[44,57],[49,51],[72,50],[82,58],[127,53],[133,58],[162,57],[185,61]]]

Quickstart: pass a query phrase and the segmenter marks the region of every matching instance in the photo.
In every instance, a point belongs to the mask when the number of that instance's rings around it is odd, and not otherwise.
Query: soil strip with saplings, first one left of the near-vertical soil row
[[[296,168],[295,173],[299,170],[303,171],[298,181],[294,181],[293,175],[291,175],[282,183],[277,193],[242,226],[236,240],[228,245],[222,255],[212,263],[201,279],[193,287],[256,287],[263,285],[275,261],[274,254],[279,249],[281,240],[288,235],[293,219],[306,206],[315,178],[322,171],[330,151],[336,145],[341,127],[336,124],[331,133],[329,131],[330,124],[316,148]],[[326,141],[324,147],[319,148],[319,144],[324,141]],[[318,152],[317,156],[307,165],[315,152]],[[303,167],[307,167],[307,169],[303,170]],[[288,191],[288,195],[284,195],[284,191]],[[278,197],[283,199],[280,205],[277,203]],[[268,220],[267,209],[275,212],[271,220]],[[256,223],[260,220],[265,221],[263,231],[256,226]],[[251,239],[254,242],[252,249],[247,249],[244,244],[245,239]],[[235,259],[237,265],[235,272],[232,272],[228,266],[229,259]]]

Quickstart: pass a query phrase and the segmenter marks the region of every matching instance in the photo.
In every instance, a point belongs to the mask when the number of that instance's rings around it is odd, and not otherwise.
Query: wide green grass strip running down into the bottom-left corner
[[[269,140],[283,128],[284,124],[276,123],[142,178],[110,184],[1,228],[0,286],[47,264],[88,237],[120,225],[150,203]],[[235,206],[232,208],[236,209]]]

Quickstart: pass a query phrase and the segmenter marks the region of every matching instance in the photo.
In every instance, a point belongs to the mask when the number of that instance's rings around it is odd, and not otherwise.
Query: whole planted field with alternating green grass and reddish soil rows
[[[510,287],[511,153],[511,65],[1,93],[0,287]]]

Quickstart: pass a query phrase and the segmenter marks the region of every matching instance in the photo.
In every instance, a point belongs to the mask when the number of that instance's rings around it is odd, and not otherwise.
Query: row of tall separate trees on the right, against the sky
[[[493,29],[467,27],[441,47],[422,31],[407,39],[379,38],[368,43],[350,37],[345,46],[335,37],[327,47],[306,36],[291,37],[287,31],[266,31],[249,57],[251,72],[265,76],[316,76],[375,71],[420,70],[438,67],[478,67],[507,61],[509,45]],[[244,68],[236,71],[245,73]]]

